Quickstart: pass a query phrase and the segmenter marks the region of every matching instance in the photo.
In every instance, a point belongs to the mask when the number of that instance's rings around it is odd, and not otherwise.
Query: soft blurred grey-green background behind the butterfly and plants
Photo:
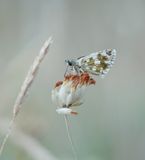
[[[95,77],[79,115],[70,117],[72,136],[79,160],[144,160],[143,0],[0,0],[0,141],[27,71],[49,36],[54,43],[0,159],[72,160],[51,90],[63,79],[65,59],[115,48],[114,67],[104,79]]]

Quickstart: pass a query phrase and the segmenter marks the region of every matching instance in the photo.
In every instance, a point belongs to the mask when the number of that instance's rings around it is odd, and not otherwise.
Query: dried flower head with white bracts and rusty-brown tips
[[[95,80],[88,73],[69,74],[63,81],[58,81],[52,90],[52,100],[58,106],[59,114],[74,114],[71,107],[82,104],[81,98],[87,86],[95,84]]]

